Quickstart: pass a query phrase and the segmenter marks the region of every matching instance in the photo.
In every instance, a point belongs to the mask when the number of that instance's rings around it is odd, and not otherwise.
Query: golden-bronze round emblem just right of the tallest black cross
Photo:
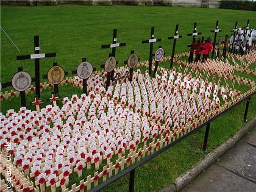
[[[52,66],[47,74],[47,78],[51,84],[59,85],[65,77],[65,71],[60,65]]]

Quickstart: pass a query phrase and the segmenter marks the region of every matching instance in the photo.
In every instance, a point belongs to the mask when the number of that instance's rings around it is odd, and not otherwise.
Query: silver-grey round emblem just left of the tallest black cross
[[[17,91],[25,91],[29,88],[32,79],[26,71],[19,71],[12,77],[12,87]]]

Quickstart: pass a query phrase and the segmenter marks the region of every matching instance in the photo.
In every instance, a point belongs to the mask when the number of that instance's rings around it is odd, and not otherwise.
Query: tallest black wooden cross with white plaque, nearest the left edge
[[[46,57],[56,57],[56,53],[40,54],[39,36],[34,36],[34,54],[17,56],[17,60],[35,59],[35,94],[40,98],[40,59]]]

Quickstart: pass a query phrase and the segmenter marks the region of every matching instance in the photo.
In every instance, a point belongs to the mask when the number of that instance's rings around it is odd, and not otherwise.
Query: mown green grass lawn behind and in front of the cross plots
[[[170,55],[172,41],[168,40],[168,36],[174,35],[176,24],[179,24],[179,34],[183,35],[183,38],[177,40],[176,53],[180,53],[188,51],[187,44],[191,43],[191,37],[187,37],[187,33],[192,31],[194,21],[197,21],[197,29],[203,35],[213,37],[210,29],[214,29],[216,20],[219,20],[219,28],[222,29],[219,34],[224,37],[226,33],[230,34],[235,21],[242,27],[246,25],[247,19],[250,20],[250,26],[256,26],[255,12],[240,10],[121,5],[1,6],[1,26],[20,48],[18,52],[1,32],[1,82],[10,81],[18,66],[23,66],[24,70],[34,76],[34,61],[16,61],[16,55],[34,52],[34,35],[40,35],[40,52],[57,52],[55,58],[41,59],[41,74],[46,74],[54,61],[71,72],[77,68],[82,57],[87,57],[99,69],[110,52],[110,49],[101,49],[101,44],[112,42],[113,29],[118,29],[118,42],[127,43],[126,47],[118,48],[116,52],[119,63],[123,63],[132,49],[137,52],[140,60],[148,59],[149,44],[141,44],[141,40],[149,39],[151,26],[155,26],[155,37],[162,38],[160,43],[155,43],[154,50],[162,45],[166,55]],[[71,85],[60,88],[61,96],[81,93],[82,91]],[[42,98],[49,98],[50,95],[50,91],[44,91]],[[27,96],[27,103],[33,96]],[[251,99],[248,119],[256,115],[255,102],[254,96]],[[19,106],[19,98],[4,100],[1,102],[1,112],[6,112],[9,108],[17,110]],[[244,108],[245,102],[211,124],[208,152],[244,125]],[[201,152],[203,141],[204,129],[136,169],[135,190],[158,191],[169,185],[204,157],[205,154]],[[104,191],[128,189],[129,177],[126,176],[109,185]]]

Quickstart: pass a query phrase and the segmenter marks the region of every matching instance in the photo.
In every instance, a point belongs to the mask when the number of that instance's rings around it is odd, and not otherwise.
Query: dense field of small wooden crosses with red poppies
[[[113,62],[105,63],[105,71],[91,67],[86,74],[77,68],[77,76],[63,76],[59,82],[86,86],[86,93],[61,99],[52,94],[46,107],[35,98],[35,111],[21,107],[1,113],[0,172],[1,178],[12,180],[7,188],[8,180],[1,179],[1,190],[91,190],[254,94],[255,30],[237,28],[216,46],[210,38],[196,40],[196,35],[191,35],[190,52],[165,56],[158,48],[155,60],[138,62],[133,55],[128,66],[115,68],[112,52]],[[109,48],[118,46],[113,42]],[[52,87],[51,82],[40,84],[41,91]],[[34,86],[24,91],[34,92]],[[20,94],[6,91],[1,99]]]

